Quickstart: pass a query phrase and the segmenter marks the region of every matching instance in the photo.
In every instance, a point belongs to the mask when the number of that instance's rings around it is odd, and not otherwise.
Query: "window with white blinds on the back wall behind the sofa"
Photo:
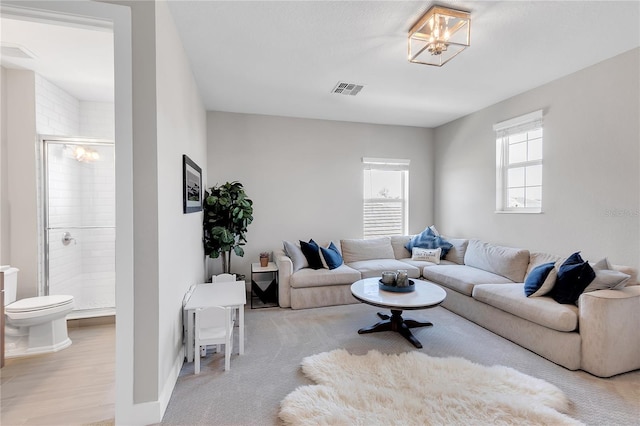
[[[363,158],[363,237],[406,235],[409,160]]]

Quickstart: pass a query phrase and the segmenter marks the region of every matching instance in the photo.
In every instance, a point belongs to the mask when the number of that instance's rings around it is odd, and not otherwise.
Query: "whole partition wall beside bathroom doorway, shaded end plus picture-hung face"
[[[166,2],[123,4],[133,28],[132,396],[148,424],[162,418],[182,366],[182,299],[204,281],[202,216],[182,213],[182,154],[206,175],[206,115]]]

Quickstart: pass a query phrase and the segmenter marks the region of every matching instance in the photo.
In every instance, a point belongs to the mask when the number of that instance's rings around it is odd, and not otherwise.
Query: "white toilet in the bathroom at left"
[[[5,358],[57,352],[71,345],[67,314],[73,296],[29,297],[16,301],[18,269],[0,267],[4,274]]]

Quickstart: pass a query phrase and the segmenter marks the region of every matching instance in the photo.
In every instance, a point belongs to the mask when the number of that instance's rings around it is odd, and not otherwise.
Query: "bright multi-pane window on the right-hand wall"
[[[493,126],[496,132],[496,210],[542,211],[542,111]]]

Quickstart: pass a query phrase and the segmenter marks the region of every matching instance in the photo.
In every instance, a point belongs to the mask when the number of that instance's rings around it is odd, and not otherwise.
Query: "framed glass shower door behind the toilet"
[[[113,313],[114,146],[74,139],[44,148],[44,292],[74,296],[76,317]]]

